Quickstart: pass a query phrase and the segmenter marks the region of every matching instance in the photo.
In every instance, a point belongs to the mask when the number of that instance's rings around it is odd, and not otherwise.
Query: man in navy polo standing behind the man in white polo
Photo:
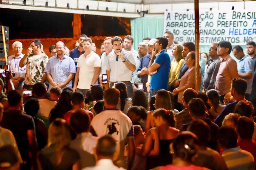
[[[78,39],[79,46],[77,48],[72,49],[69,54],[69,57],[71,57],[74,60],[75,65],[77,64],[78,58],[80,57],[80,55],[84,54],[84,48],[83,48],[82,41],[85,38],[87,38],[87,35],[81,34]],[[77,67],[76,67],[76,69],[77,69]],[[72,79],[72,87],[74,86],[74,82],[75,82],[75,76]]]

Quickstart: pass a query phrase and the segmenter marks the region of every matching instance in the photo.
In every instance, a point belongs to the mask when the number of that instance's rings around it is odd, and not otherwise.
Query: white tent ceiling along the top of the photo
[[[1,4],[2,2],[2,4]],[[46,7],[46,2],[48,7]],[[69,8],[67,7],[69,5]],[[89,10],[86,7],[89,7]],[[255,0],[199,0],[199,10],[256,9]],[[193,11],[193,0],[0,0],[0,8],[54,11],[114,17],[138,18],[164,15],[164,11]],[[106,10],[108,8],[108,11]],[[125,12],[124,12],[125,11]]]

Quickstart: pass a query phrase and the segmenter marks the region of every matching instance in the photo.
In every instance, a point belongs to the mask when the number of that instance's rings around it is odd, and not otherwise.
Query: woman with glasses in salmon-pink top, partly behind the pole
[[[182,104],[183,92],[187,88],[195,89],[195,71],[196,71],[195,70],[195,52],[189,52],[185,60],[189,69],[181,77],[179,87],[172,91],[174,95],[178,94],[178,102],[181,104]],[[199,80],[200,81],[202,80],[201,72],[200,72]]]

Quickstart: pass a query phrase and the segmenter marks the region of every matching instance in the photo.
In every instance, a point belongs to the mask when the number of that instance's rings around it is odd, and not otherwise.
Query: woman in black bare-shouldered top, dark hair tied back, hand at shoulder
[[[172,163],[169,145],[179,133],[179,130],[174,128],[172,111],[157,109],[153,113],[153,119],[155,127],[148,131],[142,153],[142,156],[149,155],[147,169]]]

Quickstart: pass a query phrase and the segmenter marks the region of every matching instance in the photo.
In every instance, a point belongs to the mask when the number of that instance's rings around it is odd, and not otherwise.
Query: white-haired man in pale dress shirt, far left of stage
[[[15,90],[21,90],[24,85],[24,78],[26,74],[26,66],[19,66],[20,59],[23,58],[24,54],[22,54],[22,43],[20,41],[15,41],[12,44],[12,49],[14,55],[11,55],[7,59],[7,65],[9,66],[9,70],[15,73],[15,76],[12,79],[12,83],[14,85]]]

